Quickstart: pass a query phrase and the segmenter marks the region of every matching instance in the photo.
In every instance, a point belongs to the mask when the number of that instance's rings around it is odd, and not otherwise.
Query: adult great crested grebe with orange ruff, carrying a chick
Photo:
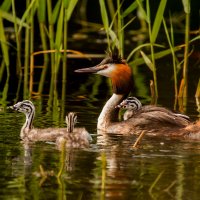
[[[200,138],[200,121],[192,124],[185,115],[175,115],[172,111],[157,106],[138,112],[137,115],[119,121],[116,108],[132,89],[132,72],[129,65],[119,55],[110,53],[100,64],[75,70],[78,73],[95,73],[109,77],[113,95],[106,102],[98,118],[97,129],[101,132],[137,134],[145,130],[149,135],[189,136]]]

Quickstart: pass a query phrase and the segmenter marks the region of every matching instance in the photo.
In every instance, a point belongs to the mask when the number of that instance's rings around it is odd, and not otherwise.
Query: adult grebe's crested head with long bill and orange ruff
[[[115,94],[128,94],[132,89],[132,71],[118,53],[110,53],[94,67],[77,69],[78,73],[95,73],[111,78]]]

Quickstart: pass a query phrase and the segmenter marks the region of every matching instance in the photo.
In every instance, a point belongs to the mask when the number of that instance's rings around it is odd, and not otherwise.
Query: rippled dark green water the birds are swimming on
[[[99,91],[91,97],[89,91],[73,90],[54,108],[48,99],[33,100],[36,127],[65,126],[61,115],[73,110],[78,112],[78,126],[85,126],[94,139],[88,149],[67,150],[60,179],[56,175],[61,152],[54,144],[38,143],[30,154],[19,139],[23,114],[2,108],[0,199],[199,199],[200,141],[144,137],[140,149],[134,150],[135,136],[97,137],[96,121],[107,95]],[[161,99],[160,103],[169,103],[166,97]],[[187,108],[197,118],[193,98]],[[40,166],[47,177],[39,173]]]

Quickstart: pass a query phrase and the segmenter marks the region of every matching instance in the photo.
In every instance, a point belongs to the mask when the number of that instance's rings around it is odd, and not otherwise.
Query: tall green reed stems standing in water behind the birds
[[[127,57],[130,66],[141,65],[146,63],[152,72],[153,88],[152,93],[156,99],[159,95],[156,60],[165,56],[172,56],[173,63],[173,79],[174,79],[174,96],[187,97],[188,95],[188,62],[190,55],[190,45],[195,40],[200,39],[199,32],[190,40],[190,1],[182,0],[183,11],[185,13],[185,41],[184,44],[177,45],[174,37],[174,24],[170,17],[166,17],[167,0],[161,0],[157,6],[155,16],[152,17],[151,2],[149,0],[135,0],[127,3],[126,0],[106,1],[99,0],[99,12],[101,14],[102,25],[107,39],[107,51],[118,49],[122,57]],[[128,4],[128,6],[127,6]],[[35,94],[42,95],[44,84],[47,79],[47,71],[51,71],[51,79],[49,82],[49,95],[53,95],[57,90],[58,73],[62,72],[62,96],[64,98],[67,83],[67,55],[69,40],[69,22],[72,16],[76,16],[76,20],[81,21],[80,15],[74,15],[74,10],[82,8],[84,16],[89,15],[90,8],[86,8],[87,1],[79,2],[78,0],[26,0],[26,7],[20,16],[16,9],[14,0],[4,0],[0,5],[0,43],[1,43],[1,68],[0,82],[4,85],[5,91],[8,91],[8,82],[11,72],[16,71],[19,78],[19,89],[23,83],[23,96],[33,95],[33,70],[36,67],[33,62],[33,56],[38,51],[42,52],[43,64],[40,73],[37,91]],[[14,31],[14,48],[16,51],[16,69],[10,66],[10,50],[13,50],[13,44],[10,43],[6,36],[6,21],[11,23]],[[140,29],[133,29],[135,21],[140,22]],[[169,21],[169,23],[167,23]],[[90,24],[90,22],[86,22]],[[99,25],[98,25],[99,26]],[[132,30],[133,29],[133,30]],[[39,30],[36,32],[36,30]],[[138,43],[135,48],[125,51],[125,33],[133,31],[138,37],[143,35],[144,39]],[[164,30],[165,41],[168,45],[159,44],[159,34]],[[162,33],[163,37],[164,34]],[[41,47],[35,45],[40,42]],[[105,47],[106,50],[106,47]],[[184,59],[179,62],[176,52],[184,50]],[[48,53],[47,53],[48,52]],[[141,53],[141,55],[140,55]],[[83,56],[84,57],[84,56]],[[50,65],[50,69],[49,66]],[[61,67],[62,66],[62,67]],[[180,86],[178,73],[181,66],[182,81]],[[5,81],[6,75],[6,81]],[[22,79],[23,77],[23,79]],[[20,81],[21,80],[21,81]],[[178,91],[179,88],[179,91]],[[199,85],[197,86],[199,88]],[[198,92],[197,92],[198,94]],[[6,97],[4,97],[6,98]]]

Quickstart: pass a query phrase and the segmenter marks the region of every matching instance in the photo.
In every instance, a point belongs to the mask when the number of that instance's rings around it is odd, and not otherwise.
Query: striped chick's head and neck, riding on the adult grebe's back
[[[136,97],[128,97],[123,100],[116,108],[125,109],[123,119],[127,120],[137,113],[142,108],[142,103]]]

